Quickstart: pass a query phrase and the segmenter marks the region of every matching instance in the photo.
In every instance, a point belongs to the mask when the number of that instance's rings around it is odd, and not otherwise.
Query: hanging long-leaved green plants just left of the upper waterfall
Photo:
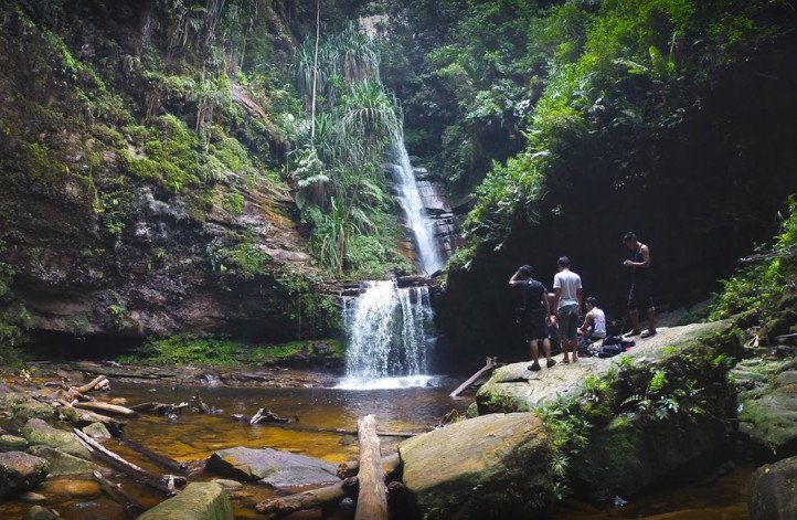
[[[307,117],[297,126],[293,177],[302,222],[311,230],[319,263],[384,275],[404,269],[394,252],[396,223],[381,170],[383,153],[401,135],[401,115],[379,78],[376,44],[354,25],[319,42],[308,39],[297,54],[297,84]],[[312,82],[317,112],[312,119]]]

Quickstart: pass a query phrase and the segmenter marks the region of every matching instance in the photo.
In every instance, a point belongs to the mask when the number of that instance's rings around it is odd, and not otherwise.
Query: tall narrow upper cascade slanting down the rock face
[[[391,169],[398,191],[398,204],[413,234],[418,266],[422,272],[432,275],[443,268],[443,258],[435,240],[435,226],[424,210],[404,139],[396,135],[393,141],[392,158],[395,162],[391,165]]]

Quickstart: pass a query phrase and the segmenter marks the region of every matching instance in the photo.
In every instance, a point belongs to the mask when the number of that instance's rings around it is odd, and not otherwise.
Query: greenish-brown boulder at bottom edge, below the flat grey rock
[[[221,486],[192,482],[177,497],[160,502],[138,520],[233,520],[233,506]]]

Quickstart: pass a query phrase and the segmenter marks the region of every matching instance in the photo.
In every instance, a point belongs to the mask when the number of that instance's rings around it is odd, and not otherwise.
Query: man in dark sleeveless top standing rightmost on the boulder
[[[639,242],[637,235],[628,232],[623,237],[623,243],[633,253],[633,259],[627,259],[623,266],[631,269],[631,288],[628,293],[628,317],[631,320],[631,330],[626,336],[639,336],[649,338],[656,333],[656,307],[650,291],[650,250]],[[648,311],[648,330],[639,330],[639,309]]]

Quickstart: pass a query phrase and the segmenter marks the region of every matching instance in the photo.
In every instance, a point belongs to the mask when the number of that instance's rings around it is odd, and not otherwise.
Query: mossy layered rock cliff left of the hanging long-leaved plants
[[[328,333],[275,172],[290,6],[179,3],[0,8],[3,319],[74,337]]]

